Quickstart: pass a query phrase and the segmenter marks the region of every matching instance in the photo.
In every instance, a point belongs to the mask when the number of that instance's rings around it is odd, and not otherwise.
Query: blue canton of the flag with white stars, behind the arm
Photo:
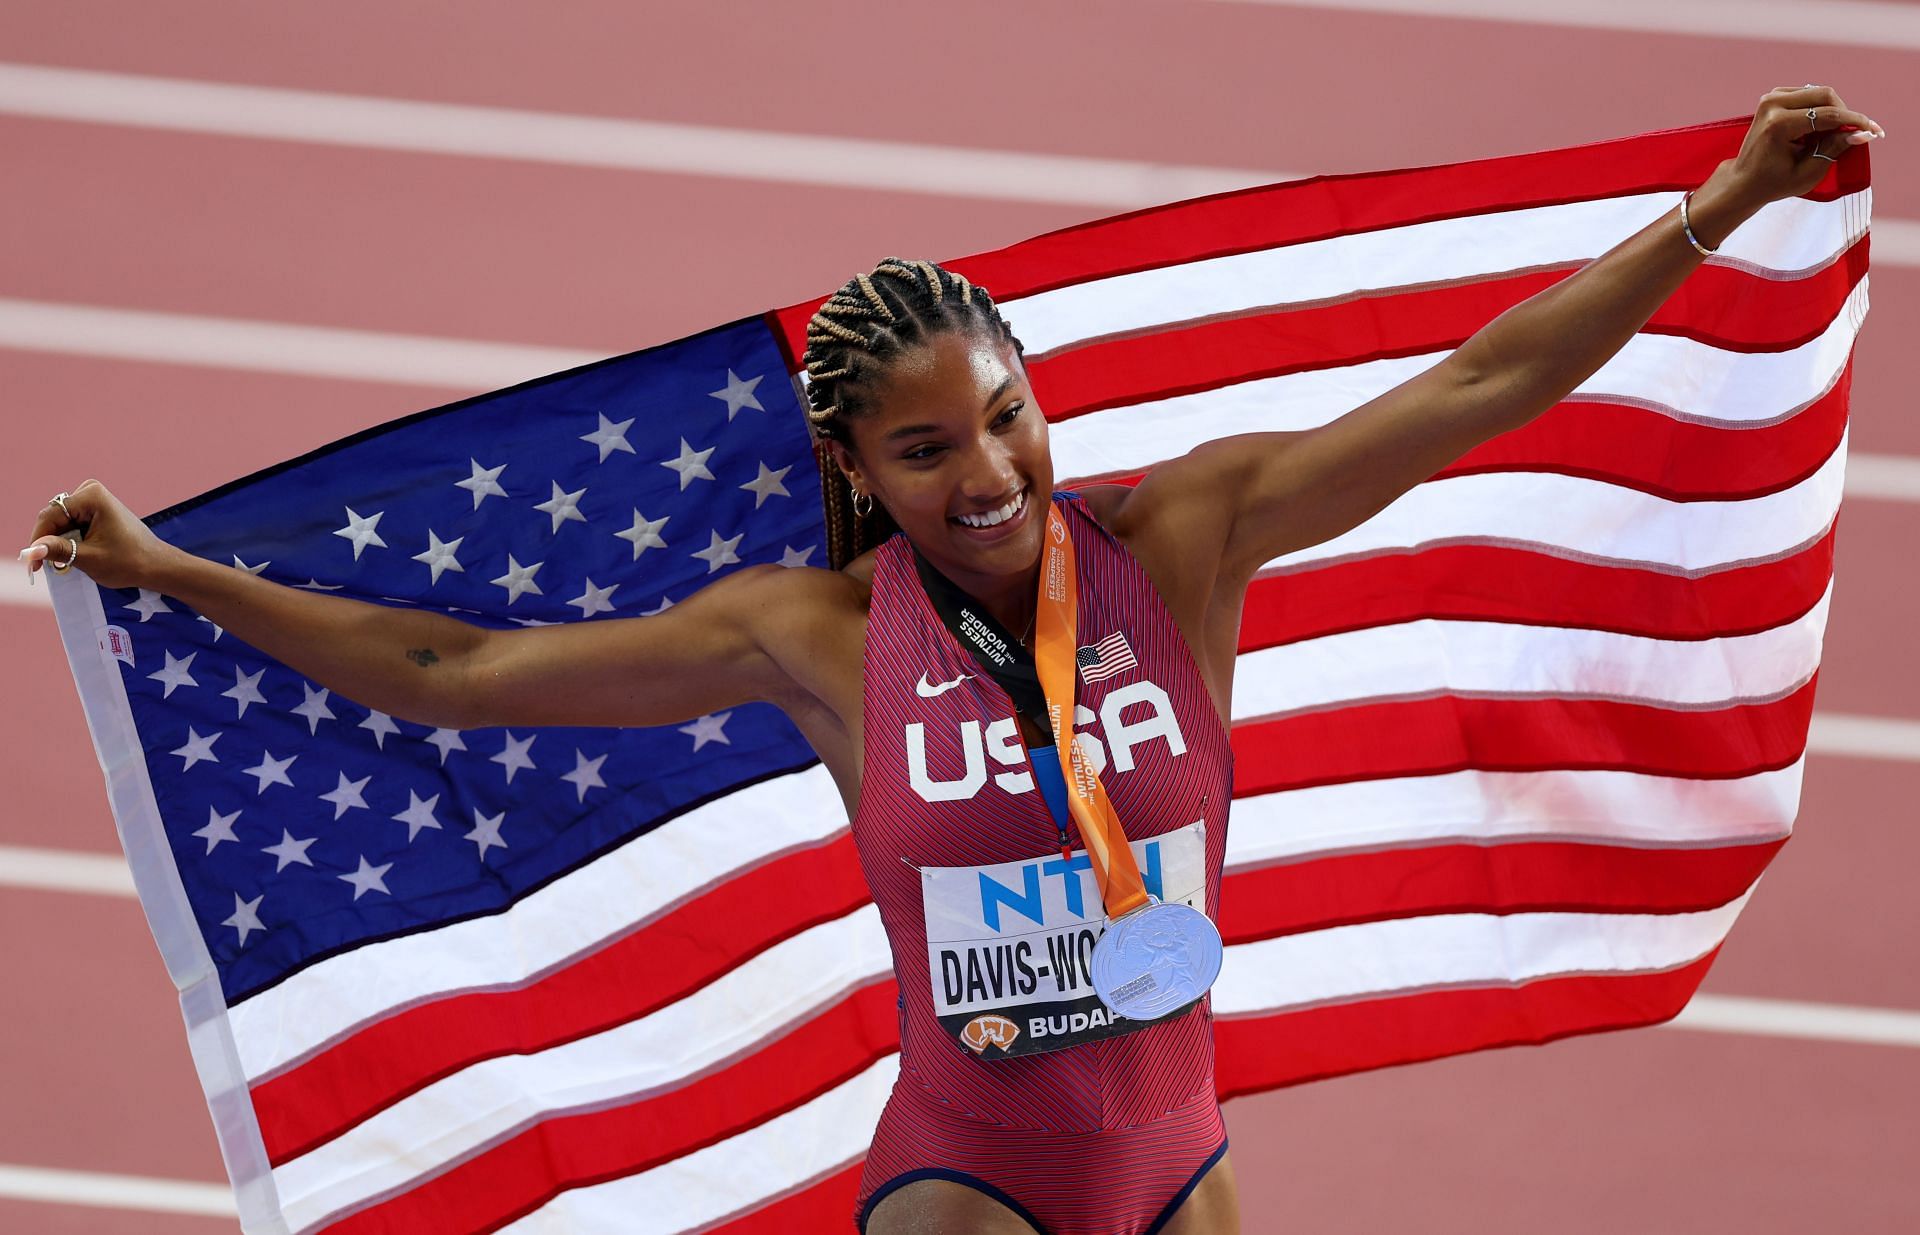
[[[824,565],[820,482],[760,319],[348,438],[154,530],[300,588],[484,626],[664,611]],[[434,730],[152,592],[106,593],[173,860],[228,1001],[371,939],[499,912],[685,809],[814,761],[783,714]]]

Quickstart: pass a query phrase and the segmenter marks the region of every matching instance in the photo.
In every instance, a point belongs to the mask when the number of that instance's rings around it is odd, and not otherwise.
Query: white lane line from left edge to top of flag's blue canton
[[[463,392],[513,386],[603,355],[572,348],[12,298],[0,298],[0,348]]]

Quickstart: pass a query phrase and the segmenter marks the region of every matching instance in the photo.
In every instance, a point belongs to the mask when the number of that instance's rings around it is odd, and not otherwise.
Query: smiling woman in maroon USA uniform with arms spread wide
[[[1129,837],[1162,843],[1158,878],[1187,872],[1213,912],[1254,572],[1553,407],[1703,252],[1876,136],[1830,88],[1770,90],[1738,156],[1680,209],[1446,361],[1323,428],[1212,442],[1137,488],[1054,496],[1046,421],[991,296],[929,263],[885,261],[808,328],[833,569],[743,569],[659,617],[482,630],[284,588],[165,545],[92,480],[40,511],[21,557],[179,597],[336,693],[420,724],[653,726],[755,699],[781,707],[839,784],[902,991],[900,1076],[860,1227],[1236,1231],[1206,1001],[1102,1026],[1039,1008],[1041,953],[991,983],[960,964],[964,949],[945,972],[931,958],[947,874],[983,887],[968,874],[1023,862],[1064,874],[1071,901],[1081,885],[1048,736],[962,649],[922,580],[945,578],[1031,643],[1043,540],[1050,515],[1062,521],[1075,643],[1133,661],[1079,688],[1075,726],[1098,747],[1089,759]],[[1071,960],[1056,953],[1052,968]],[[1010,1014],[968,1020],[973,985],[1004,987]]]

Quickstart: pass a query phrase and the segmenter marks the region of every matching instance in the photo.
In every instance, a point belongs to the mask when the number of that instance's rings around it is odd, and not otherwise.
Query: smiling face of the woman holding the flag
[[[895,357],[835,457],[941,574],[979,595],[1029,572],[1054,488],[1046,421],[1014,346],[935,334]]]

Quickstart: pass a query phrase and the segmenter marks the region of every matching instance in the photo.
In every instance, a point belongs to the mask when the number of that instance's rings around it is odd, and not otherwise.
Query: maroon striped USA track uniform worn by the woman
[[[1194,903],[1204,887],[1202,908],[1217,918],[1233,772],[1227,730],[1146,572],[1077,496],[1056,499],[1077,559],[1075,642],[1098,649],[1081,657],[1075,676],[1075,732],[1094,747],[1092,763],[1137,849],[1160,837],[1156,845],[1171,853],[1185,841]],[[1094,655],[1100,663],[1087,666]],[[1062,874],[1060,834],[1035,780],[1046,770],[1058,776],[1058,763],[1029,761],[1012,699],[933,611],[904,536],[876,553],[864,701],[852,834],[900,981],[900,1076],[860,1181],[860,1227],[891,1191],[952,1179],[1052,1235],[1158,1229],[1227,1149],[1204,1001],[1127,1033],[1004,1058],[968,1049],[960,1018],[941,1018],[935,989],[954,981],[958,966],[943,972],[927,943],[929,868],[948,868],[939,874],[954,880],[947,885],[962,903],[970,887],[987,889],[991,874],[1002,895],[989,905],[981,891],[979,905],[962,907],[975,918],[985,908],[995,930],[1039,932],[1044,922],[1031,918],[1043,914],[1033,897],[1041,884],[1021,876],[1035,880],[1027,868],[1046,870],[1048,860]],[[1077,830],[1069,835],[1083,849]],[[966,870],[1004,862],[1023,866]],[[1142,870],[1158,872],[1158,857]],[[1071,866],[1048,885],[1069,880]],[[1098,916],[1091,874],[1071,895]],[[1050,955],[1043,935],[1033,939],[1029,978]],[[1004,1026],[1016,1026],[1016,1039],[1025,1033],[1031,1049],[1044,1018],[1014,1014]]]

